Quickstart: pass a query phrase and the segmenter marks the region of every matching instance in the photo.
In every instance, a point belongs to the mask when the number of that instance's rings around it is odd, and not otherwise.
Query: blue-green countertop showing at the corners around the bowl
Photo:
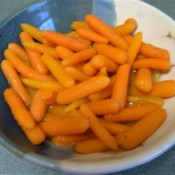
[[[144,0],[153,6],[161,9],[175,19],[174,0]],[[37,0],[0,0],[0,23],[11,15],[37,2]],[[27,162],[0,145],[0,175],[66,175],[63,172],[56,172],[46,169],[30,162]],[[110,175],[174,175],[175,174],[175,146],[169,151],[154,159],[153,161],[139,167]]]

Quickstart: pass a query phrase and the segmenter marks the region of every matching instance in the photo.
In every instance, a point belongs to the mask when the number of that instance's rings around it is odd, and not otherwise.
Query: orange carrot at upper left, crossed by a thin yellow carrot
[[[27,32],[21,32],[20,39],[22,42],[33,41],[32,37]],[[42,74],[47,74],[48,69],[45,66],[45,64],[41,61],[41,54],[29,48],[25,48],[25,51],[32,64],[32,67]]]

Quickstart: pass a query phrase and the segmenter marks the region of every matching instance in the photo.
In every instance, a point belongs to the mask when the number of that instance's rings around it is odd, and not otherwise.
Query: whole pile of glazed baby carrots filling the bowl
[[[4,98],[31,143],[46,140],[77,153],[131,150],[166,119],[175,95],[167,50],[143,42],[137,21],[109,26],[87,14],[70,33],[22,23],[21,45],[9,43],[1,69]]]

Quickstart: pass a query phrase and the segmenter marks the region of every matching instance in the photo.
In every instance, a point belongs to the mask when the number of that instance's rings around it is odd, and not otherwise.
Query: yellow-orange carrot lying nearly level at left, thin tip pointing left
[[[51,90],[53,92],[59,92],[63,89],[60,83],[56,81],[44,81],[44,80],[34,80],[34,79],[27,79],[22,78],[22,82],[29,87],[35,89],[42,89],[42,90]]]

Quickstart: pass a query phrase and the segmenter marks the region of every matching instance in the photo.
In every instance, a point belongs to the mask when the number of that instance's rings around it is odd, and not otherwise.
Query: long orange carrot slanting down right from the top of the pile
[[[100,18],[95,15],[88,14],[85,17],[87,24],[92,27],[97,33],[109,39],[109,41],[116,47],[126,50],[128,44],[126,41],[115,32],[115,30],[105,24]]]

